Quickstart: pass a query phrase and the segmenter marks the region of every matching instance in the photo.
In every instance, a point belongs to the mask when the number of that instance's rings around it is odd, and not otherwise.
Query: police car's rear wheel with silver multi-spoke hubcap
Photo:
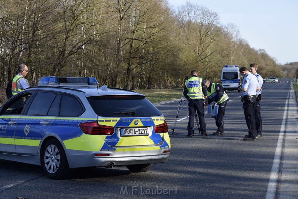
[[[54,180],[65,179],[69,175],[69,165],[60,142],[50,139],[41,153],[41,165],[46,175]]]

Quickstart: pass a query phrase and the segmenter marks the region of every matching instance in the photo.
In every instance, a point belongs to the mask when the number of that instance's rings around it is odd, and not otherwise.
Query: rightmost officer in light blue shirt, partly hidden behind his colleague
[[[250,72],[255,75],[258,79],[258,82],[260,84],[260,89],[259,91],[256,92],[257,95],[257,105],[256,105],[256,115],[254,117],[255,121],[256,121],[256,131],[257,131],[257,135],[256,138],[261,138],[262,137],[262,118],[261,118],[261,106],[260,106],[260,100],[262,98],[262,86],[263,86],[263,78],[261,75],[257,74],[257,70],[258,70],[258,66],[257,64],[250,64],[249,65],[249,70]],[[248,135],[246,135],[246,138],[248,137]]]

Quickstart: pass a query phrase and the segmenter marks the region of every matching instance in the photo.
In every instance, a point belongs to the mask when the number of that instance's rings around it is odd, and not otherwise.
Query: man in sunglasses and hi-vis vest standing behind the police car
[[[18,66],[18,74],[13,78],[11,92],[13,95],[21,92],[22,90],[30,87],[28,81],[25,79],[28,74],[28,67],[25,64]]]

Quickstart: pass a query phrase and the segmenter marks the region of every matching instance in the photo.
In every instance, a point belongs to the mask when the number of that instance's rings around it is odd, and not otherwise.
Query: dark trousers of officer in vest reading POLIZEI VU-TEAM
[[[206,134],[206,123],[204,119],[204,101],[202,99],[192,99],[190,98],[188,101],[188,114],[189,120],[187,125],[187,132],[188,135],[193,135],[193,126],[194,126],[194,118],[195,118],[195,111],[197,111],[197,115],[199,118],[200,124],[200,132],[202,135]]]

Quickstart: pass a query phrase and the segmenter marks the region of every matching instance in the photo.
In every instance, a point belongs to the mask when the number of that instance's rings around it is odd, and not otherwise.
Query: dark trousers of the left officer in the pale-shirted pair
[[[252,96],[253,96],[252,103],[249,103],[248,101],[243,102],[243,110],[244,110],[246,125],[248,127],[249,138],[254,139],[256,138],[256,135],[257,135],[256,121],[255,121],[257,100],[255,95],[252,95]]]

